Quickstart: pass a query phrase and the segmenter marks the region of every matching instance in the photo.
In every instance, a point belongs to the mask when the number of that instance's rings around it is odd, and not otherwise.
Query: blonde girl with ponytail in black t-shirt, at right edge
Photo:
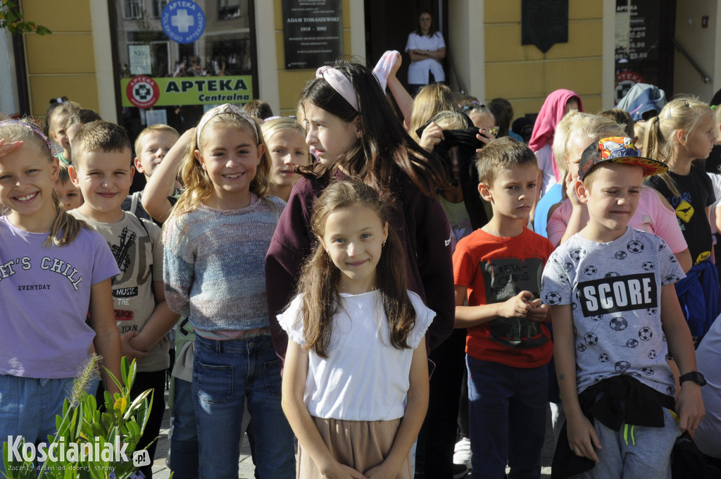
[[[668,172],[649,177],[645,185],[658,190],[676,211],[689,244],[693,268],[676,284],[676,293],[691,335],[702,337],[721,311],[718,272],[709,260],[712,251],[709,212],[715,202],[713,185],[692,164],[706,159],[716,144],[713,110],[691,97],[666,103],[658,117],[647,121],[645,156],[668,164]]]

